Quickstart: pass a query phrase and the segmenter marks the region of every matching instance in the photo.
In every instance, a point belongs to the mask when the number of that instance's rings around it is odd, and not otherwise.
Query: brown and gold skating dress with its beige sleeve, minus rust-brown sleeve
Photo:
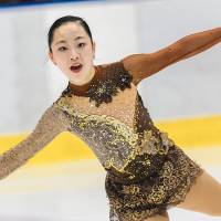
[[[203,170],[154,125],[122,61],[95,70],[90,83],[69,83],[31,135],[1,156],[0,177],[69,130],[92,148],[107,171],[112,221],[164,214],[183,201]]]

